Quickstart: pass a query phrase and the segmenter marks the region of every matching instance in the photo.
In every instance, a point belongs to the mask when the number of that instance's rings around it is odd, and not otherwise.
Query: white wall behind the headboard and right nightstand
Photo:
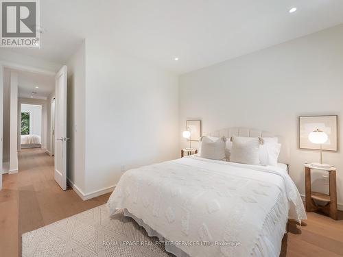
[[[186,119],[202,119],[203,134],[225,127],[254,127],[283,136],[290,149],[290,175],[305,193],[303,163],[318,151],[298,149],[298,116],[343,114],[343,25],[180,76],[179,132]],[[342,127],[339,127],[342,134]],[[179,133],[180,144],[185,140]],[[339,145],[342,146],[342,137]],[[343,204],[342,151],[325,152],[338,167]],[[322,173],[314,188],[327,191]]]

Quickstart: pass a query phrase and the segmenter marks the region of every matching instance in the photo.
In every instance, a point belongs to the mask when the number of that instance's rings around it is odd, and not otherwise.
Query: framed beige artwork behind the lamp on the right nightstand
[[[322,145],[323,151],[338,151],[338,115],[298,117],[299,149],[320,150],[320,145],[309,141],[309,133],[322,130],[329,139]]]

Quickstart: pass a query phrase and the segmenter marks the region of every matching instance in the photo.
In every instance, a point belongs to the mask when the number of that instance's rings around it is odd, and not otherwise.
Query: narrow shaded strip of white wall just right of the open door
[[[84,193],[84,147],[85,147],[85,45],[71,56],[67,63],[67,178]]]

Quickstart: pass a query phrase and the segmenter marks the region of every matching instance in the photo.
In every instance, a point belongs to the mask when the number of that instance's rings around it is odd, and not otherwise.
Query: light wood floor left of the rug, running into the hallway
[[[3,175],[0,191],[0,256],[21,256],[21,234],[102,205],[109,195],[83,201],[71,188],[62,191],[54,157],[43,149],[19,151],[19,173]]]

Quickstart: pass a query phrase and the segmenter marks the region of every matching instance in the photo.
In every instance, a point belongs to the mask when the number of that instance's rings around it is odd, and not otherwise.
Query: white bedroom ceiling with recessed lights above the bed
[[[15,51],[63,64],[97,37],[178,74],[343,23],[342,0],[44,0],[40,9],[41,49]]]

